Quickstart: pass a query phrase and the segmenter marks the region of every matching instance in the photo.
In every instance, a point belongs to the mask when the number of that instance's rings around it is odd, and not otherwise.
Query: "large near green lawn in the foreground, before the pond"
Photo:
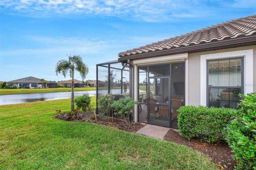
[[[0,169],[217,169],[185,146],[52,118],[69,102],[0,106]]]

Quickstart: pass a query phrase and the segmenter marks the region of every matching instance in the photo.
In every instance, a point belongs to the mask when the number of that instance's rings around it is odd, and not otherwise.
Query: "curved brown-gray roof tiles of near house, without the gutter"
[[[251,36],[256,36],[256,15],[230,20],[201,30],[189,32],[181,36],[158,41],[157,43],[127,50],[119,53],[118,56],[120,58],[129,57],[139,54],[178,49],[181,47]],[[256,41],[256,37],[254,41]]]

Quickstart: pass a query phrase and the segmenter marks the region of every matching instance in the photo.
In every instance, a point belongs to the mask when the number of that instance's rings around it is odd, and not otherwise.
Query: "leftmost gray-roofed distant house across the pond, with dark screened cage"
[[[13,87],[18,88],[43,88],[41,79],[35,78],[35,77],[27,77],[17,80],[12,80],[6,82],[7,84],[13,84]],[[47,87],[49,88],[57,88],[57,83],[54,81],[49,81],[47,83]]]

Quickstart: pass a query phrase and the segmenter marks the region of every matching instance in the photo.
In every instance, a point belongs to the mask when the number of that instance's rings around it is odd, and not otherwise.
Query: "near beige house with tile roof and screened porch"
[[[123,92],[111,91],[111,81],[118,79],[111,70],[123,77],[124,68],[130,72],[130,96],[139,101],[135,122],[178,128],[177,109],[183,105],[236,108],[238,94],[256,91],[256,15],[126,50],[117,61],[97,64],[97,81],[108,80],[107,93]]]

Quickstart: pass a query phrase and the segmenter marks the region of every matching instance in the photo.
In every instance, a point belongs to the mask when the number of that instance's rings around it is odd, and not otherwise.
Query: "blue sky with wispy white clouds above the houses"
[[[119,52],[253,14],[256,0],[1,0],[0,81],[69,80],[55,65],[74,52],[94,80]]]

